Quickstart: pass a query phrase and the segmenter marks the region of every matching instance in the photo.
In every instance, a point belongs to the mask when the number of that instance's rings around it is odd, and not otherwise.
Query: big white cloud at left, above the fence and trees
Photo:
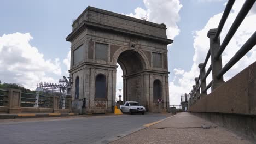
[[[25,88],[35,89],[38,82],[49,80],[54,74],[61,76],[60,60],[44,59],[36,47],[30,45],[30,33],[4,34],[0,37],[0,80],[19,83]]]

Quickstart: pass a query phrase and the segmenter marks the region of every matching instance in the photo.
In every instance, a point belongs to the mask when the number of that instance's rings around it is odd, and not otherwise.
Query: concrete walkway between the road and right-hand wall
[[[202,128],[203,124],[210,128]],[[254,143],[187,112],[145,126],[112,143]]]

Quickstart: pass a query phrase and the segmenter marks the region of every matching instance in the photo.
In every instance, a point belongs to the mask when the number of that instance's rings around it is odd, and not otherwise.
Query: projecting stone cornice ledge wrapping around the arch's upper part
[[[114,32],[118,32],[118,33],[135,35],[135,36],[141,37],[141,38],[160,41],[161,43],[164,43],[164,44],[171,44],[173,42],[173,40],[171,40],[171,39],[165,39],[165,38],[156,37],[156,36],[148,35],[148,34],[144,34],[144,33],[133,32],[133,31],[129,31],[126,29],[121,29],[121,28],[112,27],[112,26],[106,26],[106,25],[102,25],[100,23],[95,23],[95,22],[90,22],[90,21],[83,21],[82,23],[80,23],[80,25],[77,28],[75,28],[74,31],[71,32],[71,34],[68,35],[66,40],[72,41],[75,37],[77,37],[77,35],[79,35],[81,32],[83,32],[86,27],[96,27],[96,28],[101,28],[101,29],[107,29],[108,31],[114,31]]]

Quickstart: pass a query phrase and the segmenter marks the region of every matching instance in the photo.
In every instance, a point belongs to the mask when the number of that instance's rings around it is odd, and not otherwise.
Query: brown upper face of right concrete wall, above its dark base
[[[198,99],[188,111],[256,115],[256,62]]]

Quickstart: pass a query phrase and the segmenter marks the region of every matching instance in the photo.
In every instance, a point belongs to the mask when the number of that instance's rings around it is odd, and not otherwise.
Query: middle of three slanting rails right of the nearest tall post
[[[245,19],[246,15],[248,14],[249,10],[253,7],[255,1],[247,0],[241,10],[239,11],[238,15],[236,16],[235,21],[232,23],[232,26],[229,29],[228,34],[226,34],[225,39],[223,40],[222,45],[219,47],[219,51],[214,55],[214,59],[218,60],[220,55],[222,55],[223,51],[225,50],[226,46],[229,44],[229,41],[235,34],[238,27],[241,25],[243,19]]]

